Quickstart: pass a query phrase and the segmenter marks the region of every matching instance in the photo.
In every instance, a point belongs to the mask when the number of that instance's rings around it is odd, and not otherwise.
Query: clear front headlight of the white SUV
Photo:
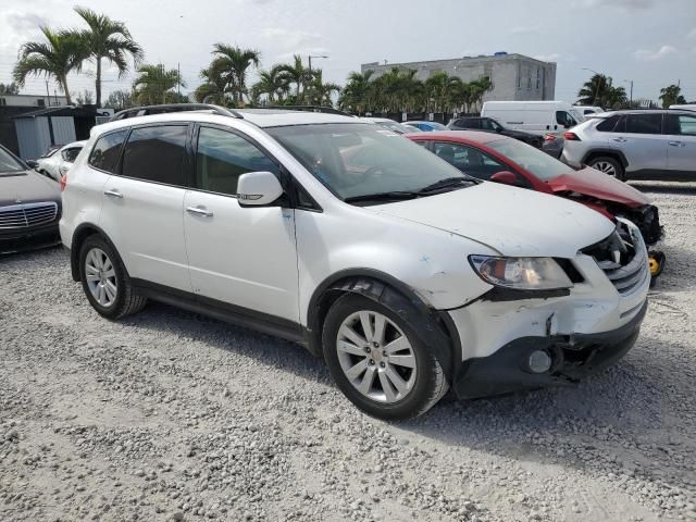
[[[486,282],[519,290],[571,288],[563,269],[551,258],[496,258],[469,256],[476,273]]]

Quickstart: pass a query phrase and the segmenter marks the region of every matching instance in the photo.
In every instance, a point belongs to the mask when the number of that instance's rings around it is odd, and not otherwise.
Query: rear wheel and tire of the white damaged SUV
[[[147,303],[133,289],[119,253],[100,235],[89,236],[79,249],[79,281],[89,303],[107,319],[139,312]]]

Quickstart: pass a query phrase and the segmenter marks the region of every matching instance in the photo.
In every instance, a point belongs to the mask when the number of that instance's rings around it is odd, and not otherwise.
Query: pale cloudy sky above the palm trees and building
[[[634,99],[657,100],[679,82],[696,100],[696,0],[0,0],[0,83],[11,80],[20,46],[41,39],[40,25],[80,26],[76,4],[125,22],[147,63],[181,67],[184,90],[224,42],[259,50],[268,69],[325,54],[313,66],[339,85],[362,63],[507,51],[557,62],[557,100],[575,101],[585,69],[626,91],[633,80]],[[92,70],[69,78],[72,94],[94,91]],[[104,99],[129,88],[133,73],[105,70]],[[23,91],[45,94],[46,83],[29,79]]]

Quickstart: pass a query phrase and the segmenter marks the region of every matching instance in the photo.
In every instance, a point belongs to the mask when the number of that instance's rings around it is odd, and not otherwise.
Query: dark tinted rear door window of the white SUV
[[[122,174],[144,182],[186,186],[187,125],[136,127],[123,153]]]

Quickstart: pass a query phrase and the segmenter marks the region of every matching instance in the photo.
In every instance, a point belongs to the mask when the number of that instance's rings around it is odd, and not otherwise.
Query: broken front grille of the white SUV
[[[585,248],[583,253],[595,258],[622,296],[632,294],[650,275],[645,245],[639,233],[629,228],[622,221],[611,236]]]

